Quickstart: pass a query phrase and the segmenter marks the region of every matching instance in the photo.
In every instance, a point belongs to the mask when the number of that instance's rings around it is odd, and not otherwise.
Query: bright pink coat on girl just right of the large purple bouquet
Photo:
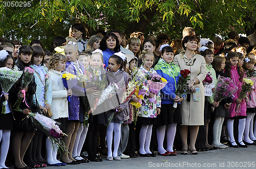
[[[246,116],[246,103],[244,102],[244,99],[242,100],[240,106],[238,106],[237,110],[237,103],[235,102],[240,95],[241,89],[242,89],[242,82],[239,80],[240,76],[238,75],[237,66],[231,66],[231,79],[236,83],[236,86],[238,86],[237,92],[235,92],[232,95],[233,103],[229,107],[229,117],[233,116]]]

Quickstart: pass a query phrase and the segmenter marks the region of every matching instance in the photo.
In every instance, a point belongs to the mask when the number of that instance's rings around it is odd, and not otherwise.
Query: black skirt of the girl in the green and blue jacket
[[[180,104],[174,111],[173,104],[162,104],[160,114],[157,115],[157,125],[182,124]]]

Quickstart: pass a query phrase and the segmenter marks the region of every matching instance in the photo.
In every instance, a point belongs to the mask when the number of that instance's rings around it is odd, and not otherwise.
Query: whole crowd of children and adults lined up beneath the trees
[[[194,29],[185,28],[183,41],[175,39],[171,45],[166,34],[144,39],[143,33],[133,33],[125,46],[125,36],[118,30],[103,36],[100,32],[89,40],[81,23],[73,25],[71,31],[73,37],[54,39],[53,53],[44,50],[39,40],[30,45],[2,42],[0,67],[17,66],[23,71],[31,67],[34,76],[23,88],[23,74],[0,97],[0,110],[7,101],[5,112],[0,114],[0,168],[98,162],[103,160],[100,155],[106,155],[105,159],[110,161],[156,157],[155,152],[176,156],[176,148],[186,155],[189,149],[191,154],[198,154],[199,150],[256,145],[256,76],[247,77],[248,71],[255,69],[256,52],[249,46],[248,38],[231,32],[224,42],[220,37],[200,41]],[[158,74],[168,83],[158,92],[147,91],[142,98],[133,94],[124,101],[136,68],[144,75]],[[184,68],[191,70],[191,74],[187,94],[180,95],[177,87]],[[63,81],[64,72],[83,75],[91,81],[81,87],[78,79]],[[209,85],[204,82],[206,76],[211,78],[212,93],[220,77],[230,78],[237,91],[217,102],[214,95],[203,94]],[[243,78],[254,84],[240,99]],[[102,91],[113,83],[119,88],[116,93],[104,104],[93,107]],[[148,87],[148,83],[145,80],[142,85]],[[15,107],[19,99],[24,100],[21,110]],[[135,107],[132,102],[141,106]],[[63,137],[66,150],[58,151],[56,143],[33,125],[27,116],[29,112],[58,122],[61,131],[67,134]],[[14,159],[7,156],[8,151]]]

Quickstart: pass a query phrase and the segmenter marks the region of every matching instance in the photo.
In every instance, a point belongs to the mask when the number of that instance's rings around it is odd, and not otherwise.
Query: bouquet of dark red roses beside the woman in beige
[[[188,93],[188,89],[187,89],[187,81],[190,79],[190,76],[188,76],[191,73],[190,70],[188,69],[184,69],[184,70],[180,70],[180,77],[179,80],[177,82],[177,90],[176,90],[176,94],[180,96],[180,98],[182,97],[183,94],[187,94]],[[174,103],[174,107],[177,107],[177,103]]]

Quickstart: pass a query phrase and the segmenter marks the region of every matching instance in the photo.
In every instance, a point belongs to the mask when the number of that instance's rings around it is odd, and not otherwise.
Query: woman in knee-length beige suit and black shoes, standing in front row
[[[183,149],[181,154],[198,154],[195,148],[195,142],[199,126],[204,125],[204,86],[202,81],[206,77],[206,66],[204,57],[195,54],[198,40],[196,36],[185,36],[182,42],[185,52],[176,55],[174,63],[181,70],[191,71],[190,80],[188,80],[189,93],[186,99],[181,103],[182,125],[180,126],[180,135]],[[197,91],[197,92],[196,92]],[[194,98],[196,100],[194,101]],[[190,144],[187,146],[187,131],[190,126]]]

